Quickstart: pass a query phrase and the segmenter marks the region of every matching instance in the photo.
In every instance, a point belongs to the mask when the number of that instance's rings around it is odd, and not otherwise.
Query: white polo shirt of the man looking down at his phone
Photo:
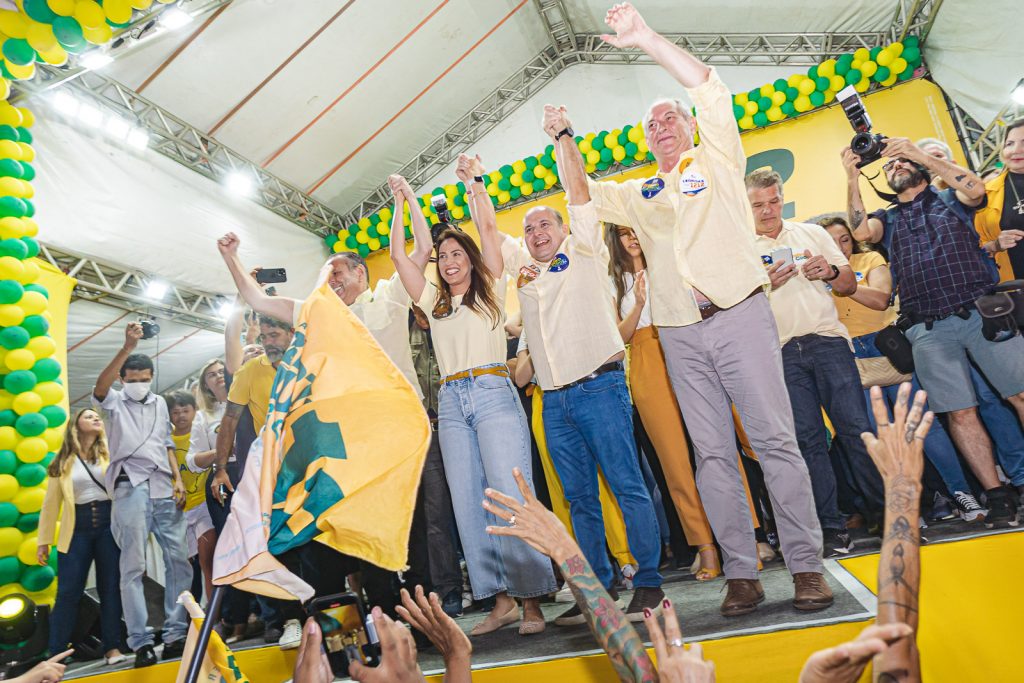
[[[771,253],[776,249],[793,249],[793,260],[798,272],[788,282],[768,295],[771,312],[778,327],[778,341],[785,344],[794,337],[821,335],[823,337],[850,338],[846,327],[839,322],[839,312],[833,303],[831,288],[820,280],[808,280],[799,269],[806,257],[824,256],[825,260],[838,268],[850,265],[843,252],[836,246],[831,236],[820,225],[782,221],[778,237],[759,234],[757,245],[765,268],[771,265]]]

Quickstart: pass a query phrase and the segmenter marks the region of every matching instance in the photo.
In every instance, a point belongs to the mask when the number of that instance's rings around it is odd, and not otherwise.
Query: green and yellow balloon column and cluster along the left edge
[[[47,564],[38,563],[37,528],[46,467],[68,421],[66,391],[60,364],[52,357],[56,345],[47,335],[48,293],[36,284],[34,119],[6,100],[10,81],[31,79],[36,62],[61,66],[69,54],[108,43],[154,0],[15,4],[16,11],[0,10],[0,596],[26,593],[37,603],[52,604],[56,551]]]

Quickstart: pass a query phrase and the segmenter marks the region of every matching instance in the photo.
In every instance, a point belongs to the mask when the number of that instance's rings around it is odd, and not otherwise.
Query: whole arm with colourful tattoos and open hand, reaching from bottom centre
[[[553,559],[569,585],[591,632],[611,659],[611,666],[623,681],[656,681],[657,672],[643,641],[623,611],[590,568],[583,551],[558,521],[534,496],[522,472],[512,470],[523,502],[519,503],[492,488],[484,492],[489,501],[483,507],[508,526],[488,526],[495,536],[514,536]],[[494,502],[492,502],[494,501]],[[514,523],[513,523],[514,522]]]

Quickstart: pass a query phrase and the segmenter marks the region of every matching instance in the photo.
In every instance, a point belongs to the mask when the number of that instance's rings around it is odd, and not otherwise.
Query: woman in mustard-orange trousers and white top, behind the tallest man
[[[613,288],[612,301],[618,311],[618,333],[623,342],[630,344],[630,393],[665,472],[686,542],[697,548],[698,568],[694,575],[697,581],[711,581],[720,577],[722,569],[693,477],[686,428],[672,393],[657,329],[650,319],[647,261],[631,227],[607,224],[604,241],[610,257],[608,274]],[[739,473],[745,486],[742,467]],[[753,511],[749,493],[748,504]]]

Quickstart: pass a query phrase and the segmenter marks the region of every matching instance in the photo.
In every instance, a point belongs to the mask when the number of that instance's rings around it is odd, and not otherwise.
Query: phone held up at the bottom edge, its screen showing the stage
[[[324,651],[335,676],[348,676],[348,665],[353,660],[367,667],[380,665],[377,632],[354,593],[315,598],[309,605],[309,614],[319,625]]]

